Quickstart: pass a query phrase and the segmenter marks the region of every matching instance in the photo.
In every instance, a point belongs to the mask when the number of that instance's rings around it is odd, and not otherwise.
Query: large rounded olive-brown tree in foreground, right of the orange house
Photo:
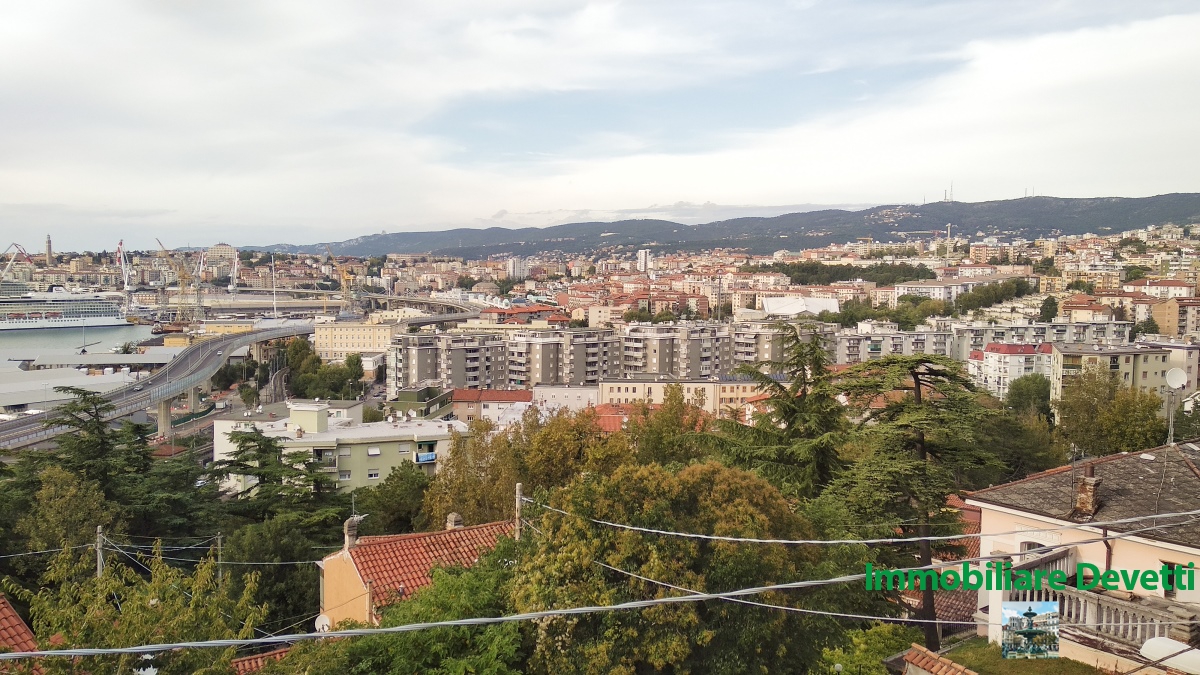
[[[703,542],[592,526],[580,516],[677,532],[736,537],[806,538],[810,525],[764,480],[716,462],[678,473],[661,466],[623,466],[611,476],[582,476],[530,508],[535,546],[516,569],[516,611],[661,598],[678,591],[726,591],[804,578],[858,560],[822,557],[794,546]],[[859,550],[863,550],[862,548]],[[822,551],[824,554],[826,551]],[[610,567],[611,566],[611,567]],[[770,604],[820,609],[883,603],[857,586],[764,593]],[[804,639],[796,639],[803,635]],[[738,603],[670,604],[640,611],[560,616],[535,628],[529,673],[809,673],[822,649],[841,635],[835,620],[764,611]]]

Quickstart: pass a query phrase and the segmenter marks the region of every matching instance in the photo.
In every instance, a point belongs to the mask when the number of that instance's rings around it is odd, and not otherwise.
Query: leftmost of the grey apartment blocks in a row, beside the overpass
[[[508,347],[491,333],[398,335],[388,347],[388,398],[434,381],[446,389],[508,387]]]

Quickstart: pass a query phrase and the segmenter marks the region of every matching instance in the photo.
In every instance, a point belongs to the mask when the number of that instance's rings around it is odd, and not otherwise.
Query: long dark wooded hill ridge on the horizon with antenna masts
[[[860,211],[829,209],[774,217],[739,217],[703,225],[623,220],[572,222],[541,228],[396,232],[329,243],[329,247],[335,253],[353,256],[432,251],[467,258],[498,253],[528,256],[556,250],[581,253],[638,247],[659,251],[739,247],[755,253],[769,253],[780,249],[799,250],[841,243],[856,237],[899,240],[900,232],[944,229],[947,223],[954,226],[955,235],[976,238],[982,232],[1003,238],[1034,239],[1086,232],[1108,234],[1150,225],[1198,222],[1200,193],[1088,199],[1026,197],[997,202],[884,205]],[[325,244],[277,244],[259,249],[320,253],[324,252]]]

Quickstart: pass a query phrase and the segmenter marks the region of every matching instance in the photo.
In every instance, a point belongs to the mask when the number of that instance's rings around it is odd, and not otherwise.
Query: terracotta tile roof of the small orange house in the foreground
[[[439,532],[362,537],[350,549],[350,557],[362,580],[372,583],[376,604],[384,605],[432,584],[430,573],[436,567],[474,565],[511,530],[512,522],[505,520]],[[392,597],[401,589],[403,595]]]

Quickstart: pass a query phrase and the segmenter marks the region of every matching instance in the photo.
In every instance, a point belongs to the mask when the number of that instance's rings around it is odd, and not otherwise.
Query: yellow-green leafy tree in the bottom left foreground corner
[[[125,647],[154,643],[246,639],[254,637],[265,608],[253,602],[254,580],[235,591],[217,579],[205,558],[191,574],[168,566],[161,551],[138,563],[148,577],[109,558],[104,573],[90,573],[95,554],[64,551],[47,568],[47,586],[30,592],[11,583],[6,590],[29,604],[32,629],[43,649]],[[173,650],[140,655],[46,658],[42,673],[133,673],[152,665],[162,675],[228,671],[234,647]]]

